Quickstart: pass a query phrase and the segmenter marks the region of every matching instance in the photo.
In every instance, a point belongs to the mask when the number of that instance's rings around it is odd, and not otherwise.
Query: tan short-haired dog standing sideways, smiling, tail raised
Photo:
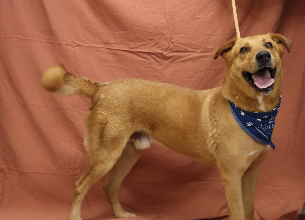
[[[75,183],[70,219],[81,219],[86,193],[112,168],[103,189],[114,213],[117,218],[136,216],[121,208],[118,189],[151,141],[217,166],[231,219],[253,219],[260,164],[270,146],[241,129],[228,100],[251,112],[274,109],[282,89],[281,58],[285,48],[290,52],[290,44],[273,33],[224,43],[213,57],[221,55],[227,62],[223,85],[203,91],[139,79],[95,82],[70,74],[62,65],[46,70],[41,83],[48,91],[92,100],[85,117],[88,164]],[[268,85],[258,86],[253,74]]]

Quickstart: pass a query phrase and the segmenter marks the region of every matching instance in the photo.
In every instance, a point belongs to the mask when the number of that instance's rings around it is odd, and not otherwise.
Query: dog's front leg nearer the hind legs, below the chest
[[[220,169],[222,185],[230,212],[231,220],[245,220],[242,205],[242,173]]]

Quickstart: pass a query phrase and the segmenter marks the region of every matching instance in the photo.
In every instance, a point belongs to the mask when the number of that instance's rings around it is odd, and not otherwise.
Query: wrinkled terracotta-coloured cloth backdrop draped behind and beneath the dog
[[[305,2],[237,0],[236,7],[242,37],[274,32],[292,40],[255,219],[297,219],[305,199]],[[67,219],[84,171],[90,100],[46,93],[46,68],[62,63],[102,82],[139,78],[209,89],[226,72],[213,52],[234,36],[229,0],[1,0],[0,219]],[[88,192],[83,219],[115,218],[104,180]],[[120,201],[135,219],[228,219],[217,169],[159,146],[143,152]]]

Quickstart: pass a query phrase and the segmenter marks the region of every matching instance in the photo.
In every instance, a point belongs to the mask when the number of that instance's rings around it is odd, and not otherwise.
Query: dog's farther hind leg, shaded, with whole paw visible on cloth
[[[136,216],[135,214],[124,211],[122,209],[118,198],[118,192],[122,181],[124,180],[124,178],[130,172],[131,168],[139,159],[141,152],[142,150],[135,148],[133,142],[128,141],[121,157],[114,165],[109,178],[106,180],[106,182],[103,185],[103,190],[105,191],[109,203],[113,207],[113,211],[117,218]]]

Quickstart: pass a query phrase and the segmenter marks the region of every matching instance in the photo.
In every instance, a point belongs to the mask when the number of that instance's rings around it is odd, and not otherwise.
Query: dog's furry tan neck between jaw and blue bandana
[[[279,103],[282,85],[274,85],[273,91],[264,95],[257,91],[249,90],[247,93],[236,86],[227,74],[221,87],[222,96],[233,102],[240,109],[249,112],[269,112]]]

